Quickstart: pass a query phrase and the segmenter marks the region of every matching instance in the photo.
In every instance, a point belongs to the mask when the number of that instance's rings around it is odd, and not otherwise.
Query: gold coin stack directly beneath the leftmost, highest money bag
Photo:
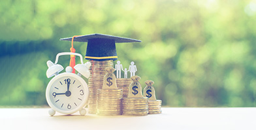
[[[104,116],[121,115],[122,89],[98,89],[97,113]]]

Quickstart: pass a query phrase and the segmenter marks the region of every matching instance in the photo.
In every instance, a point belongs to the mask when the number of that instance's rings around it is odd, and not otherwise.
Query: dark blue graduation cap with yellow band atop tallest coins
[[[72,37],[61,38],[60,40],[71,41]],[[141,41],[106,34],[88,34],[74,37],[74,42],[88,42],[86,59],[102,61],[118,59],[118,55],[116,54],[116,43]]]

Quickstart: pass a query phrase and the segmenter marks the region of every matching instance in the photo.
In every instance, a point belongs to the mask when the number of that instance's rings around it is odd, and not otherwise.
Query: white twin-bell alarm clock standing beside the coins
[[[61,55],[76,55],[80,57],[81,64],[76,64],[74,69],[78,74],[72,73],[72,68],[67,66],[65,73],[60,73],[63,67],[57,64],[59,56]],[[88,85],[81,75],[89,78],[90,62],[83,63],[82,55],[78,53],[58,53],[56,62],[47,61],[48,70],[46,75],[48,78],[55,75],[48,83],[46,88],[46,100],[52,109],[49,114],[54,116],[57,112],[62,114],[72,114],[79,110],[81,115],[86,114],[86,107],[88,103],[89,90]]]

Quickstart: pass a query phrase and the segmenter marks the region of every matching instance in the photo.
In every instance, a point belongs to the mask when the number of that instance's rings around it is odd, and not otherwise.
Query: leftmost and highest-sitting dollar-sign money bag
[[[114,75],[115,69],[112,67],[105,68],[106,75],[103,79],[103,89],[118,89],[116,85],[116,75]]]

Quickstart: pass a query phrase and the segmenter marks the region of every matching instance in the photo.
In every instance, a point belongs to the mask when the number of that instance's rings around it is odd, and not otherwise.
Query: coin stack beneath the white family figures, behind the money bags
[[[118,89],[123,89],[123,98],[127,98],[129,94],[129,85],[132,83],[131,78],[118,78],[116,79],[116,84]]]

